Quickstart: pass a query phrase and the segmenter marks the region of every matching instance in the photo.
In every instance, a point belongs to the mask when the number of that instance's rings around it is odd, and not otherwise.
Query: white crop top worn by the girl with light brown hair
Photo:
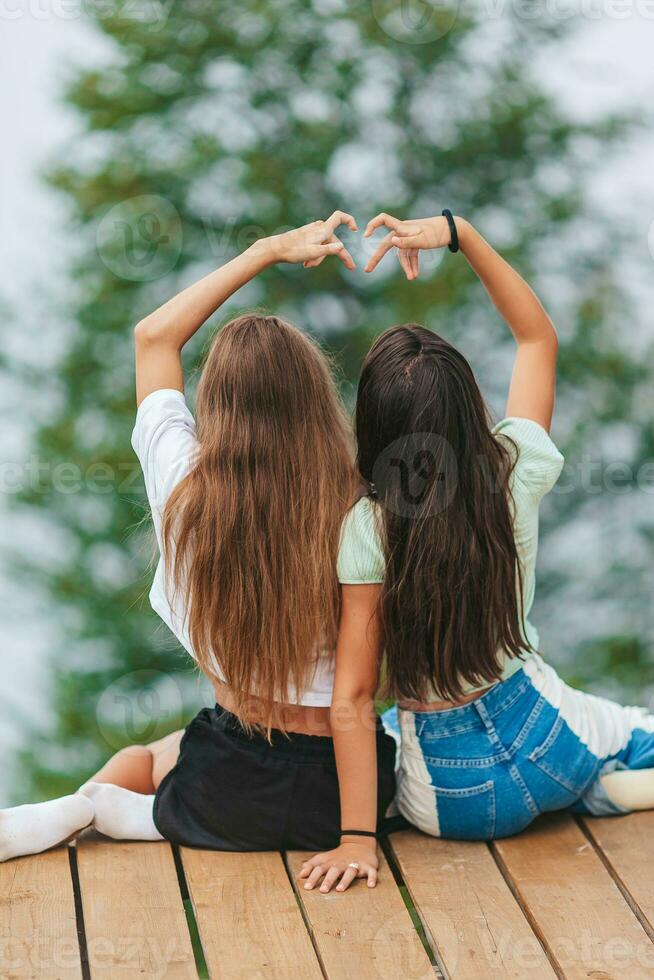
[[[159,546],[160,557],[150,589],[150,603],[195,660],[197,658],[185,625],[184,608],[180,605],[180,597],[172,595],[172,588],[170,593],[167,590],[166,570],[161,557],[161,526],[166,501],[193,467],[198,449],[195,420],[181,391],[162,388],[143,399],[136,413],[132,446],[143,470]],[[217,676],[223,677],[217,661],[214,661],[214,668]],[[290,688],[284,701],[327,708],[332,702],[333,687],[334,654],[333,651],[325,651],[316,656],[315,669],[305,691],[298,695]]]

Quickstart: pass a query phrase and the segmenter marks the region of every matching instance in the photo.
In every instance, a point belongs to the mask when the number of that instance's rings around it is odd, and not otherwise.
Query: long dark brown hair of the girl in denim
[[[519,656],[521,573],[510,446],[497,440],[465,357],[417,324],[373,344],[356,407],[358,465],[380,504],[388,693],[455,700]],[[432,695],[433,697],[433,695]]]

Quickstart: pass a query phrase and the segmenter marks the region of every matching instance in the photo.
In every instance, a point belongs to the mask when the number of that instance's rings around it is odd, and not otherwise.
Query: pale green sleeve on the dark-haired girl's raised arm
[[[493,435],[508,444],[515,457],[514,490],[540,498],[552,489],[564,459],[542,425],[533,419],[506,418],[494,427]]]

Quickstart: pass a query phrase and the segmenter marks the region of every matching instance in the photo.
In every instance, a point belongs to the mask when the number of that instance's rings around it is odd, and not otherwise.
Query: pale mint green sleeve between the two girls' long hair
[[[343,585],[383,582],[385,565],[377,505],[369,497],[361,497],[346,514],[341,528],[338,580]]]

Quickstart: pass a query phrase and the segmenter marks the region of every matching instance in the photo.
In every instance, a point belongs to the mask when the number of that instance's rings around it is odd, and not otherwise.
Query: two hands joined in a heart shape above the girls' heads
[[[457,222],[461,221],[457,218]],[[336,236],[336,229],[347,225],[358,231],[357,223],[346,211],[334,211],[326,221],[312,221],[301,228],[275,235],[269,239],[274,260],[277,262],[302,262],[305,269],[314,269],[327,256],[337,255],[346,269],[356,268],[354,259]],[[368,259],[365,272],[372,272],[392,248],[397,248],[400,265],[407,279],[419,275],[418,256],[421,249],[443,248],[450,244],[451,234],[447,219],[417,218],[402,221],[382,212],[368,222],[363,237],[369,238],[377,228],[387,228],[388,234]]]

